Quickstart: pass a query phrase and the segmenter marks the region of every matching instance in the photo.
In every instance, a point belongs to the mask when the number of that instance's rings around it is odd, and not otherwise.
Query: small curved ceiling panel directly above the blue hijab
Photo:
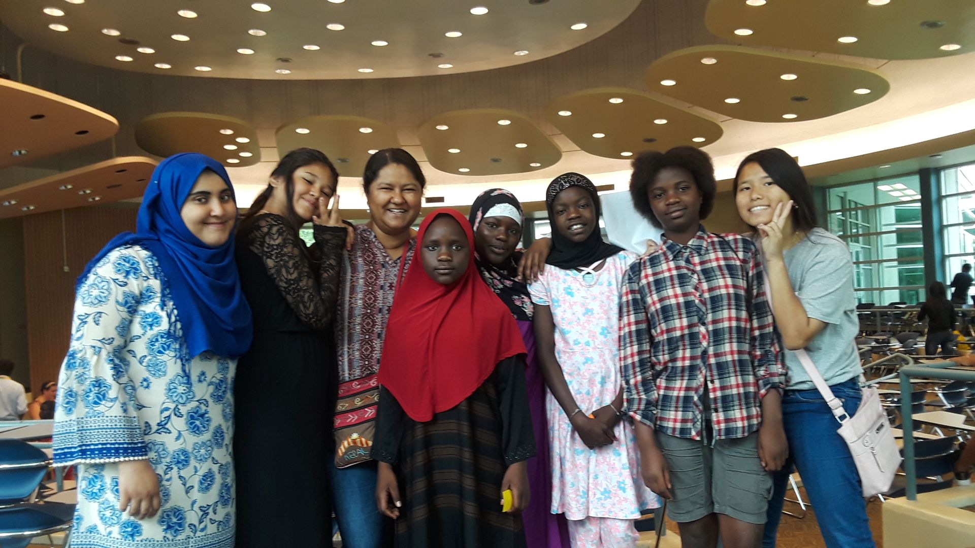
[[[199,152],[232,167],[260,161],[257,132],[237,118],[206,112],[162,112],[136,124],[136,142],[156,156]]]

